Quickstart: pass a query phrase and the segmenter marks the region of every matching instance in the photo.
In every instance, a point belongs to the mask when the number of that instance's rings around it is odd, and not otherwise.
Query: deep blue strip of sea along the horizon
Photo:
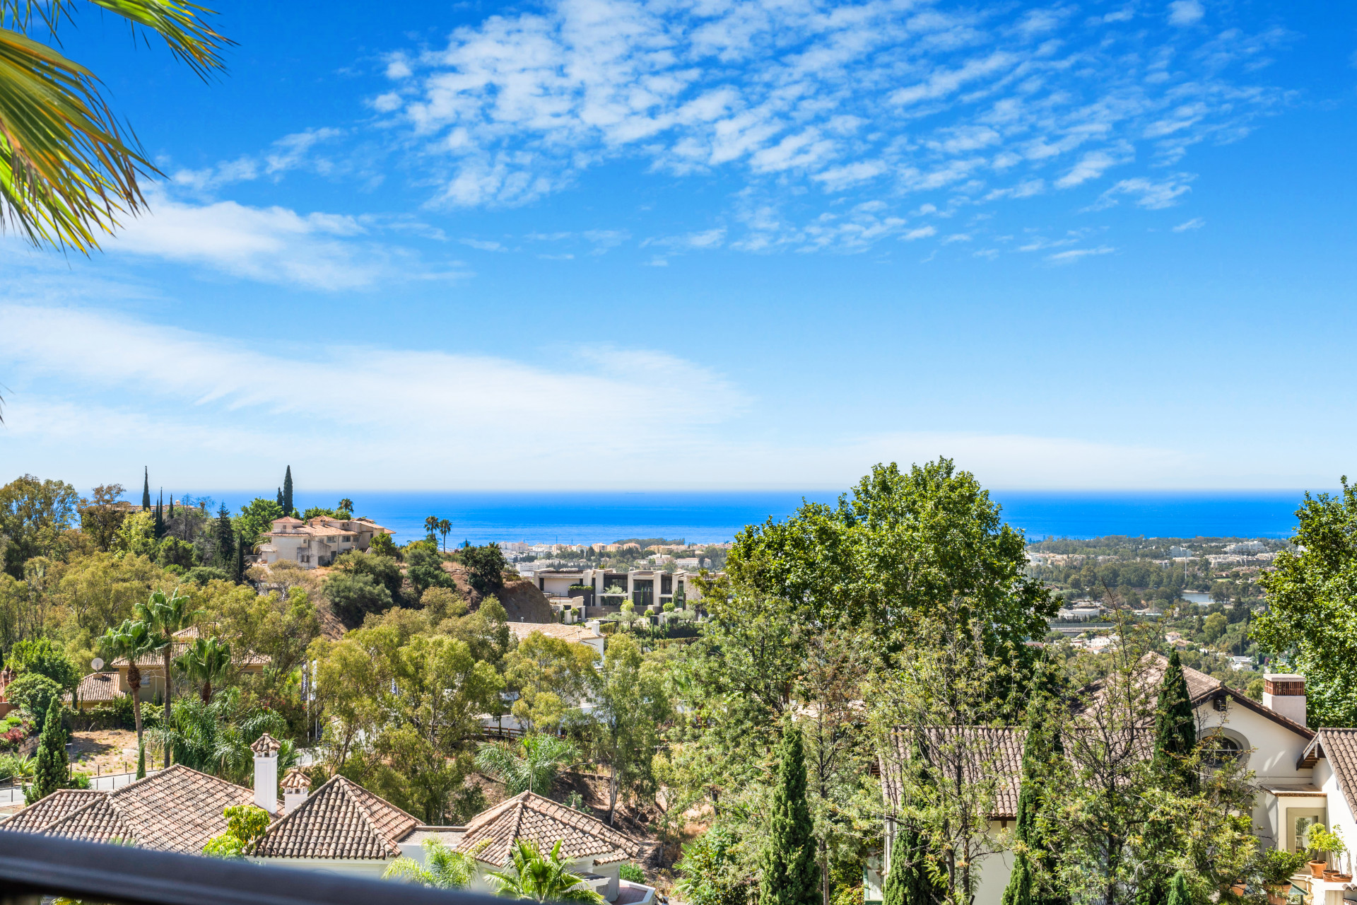
[[[748,524],[786,518],[802,499],[833,503],[840,491],[307,491],[297,488],[294,505],[334,506],[354,501],[356,514],[396,532],[403,543],[422,537],[427,516],[448,518],[449,544],[527,541],[533,544],[593,544],[623,537],[684,539],[719,543]],[[1303,491],[1223,493],[1068,493],[991,491],[1003,517],[1044,537],[1286,537],[1296,524]],[[239,509],[255,494],[205,494]],[[269,491],[266,495],[271,497]]]

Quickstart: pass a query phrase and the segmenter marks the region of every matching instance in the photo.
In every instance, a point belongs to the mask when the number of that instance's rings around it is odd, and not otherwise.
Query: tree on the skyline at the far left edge
[[[0,41],[4,33],[0,31]],[[3,76],[0,76],[3,79]],[[0,114],[0,134],[7,119]],[[0,171],[4,170],[5,145],[0,144]],[[3,176],[0,176],[0,212],[5,209]],[[0,487],[0,536],[5,537],[4,569],[15,578],[23,578],[23,563],[34,556],[60,559],[65,555],[66,539],[62,532],[76,517],[79,495],[75,487],[61,480],[39,480],[24,475]]]

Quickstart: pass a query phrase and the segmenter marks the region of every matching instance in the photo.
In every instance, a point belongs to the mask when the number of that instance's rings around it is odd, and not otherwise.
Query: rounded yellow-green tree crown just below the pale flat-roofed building
[[[588,644],[532,632],[506,658],[505,680],[518,689],[513,715],[528,731],[556,729],[589,695],[598,654]]]

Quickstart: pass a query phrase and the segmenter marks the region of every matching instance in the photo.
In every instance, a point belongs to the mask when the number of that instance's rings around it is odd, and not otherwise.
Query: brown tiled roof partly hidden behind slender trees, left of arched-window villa
[[[900,767],[909,757],[915,744],[928,757],[930,749],[946,757],[949,764],[961,758],[966,782],[996,782],[991,820],[1012,820],[1018,815],[1018,791],[1022,782],[1022,746],[1027,737],[1023,729],[993,726],[955,726],[923,731],[917,735],[905,729],[892,733],[893,761],[882,764],[881,788],[892,806],[900,805]]]

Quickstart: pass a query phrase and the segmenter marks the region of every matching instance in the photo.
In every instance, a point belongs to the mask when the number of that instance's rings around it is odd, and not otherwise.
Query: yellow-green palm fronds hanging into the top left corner
[[[159,34],[198,76],[221,71],[218,52],[231,41],[213,31],[183,0],[90,0]],[[28,37],[56,33],[72,18],[73,0],[0,0],[0,227],[9,223],[34,246],[99,247],[123,214],[147,202],[138,179],[160,172],[136,138],[122,134],[80,64]]]

